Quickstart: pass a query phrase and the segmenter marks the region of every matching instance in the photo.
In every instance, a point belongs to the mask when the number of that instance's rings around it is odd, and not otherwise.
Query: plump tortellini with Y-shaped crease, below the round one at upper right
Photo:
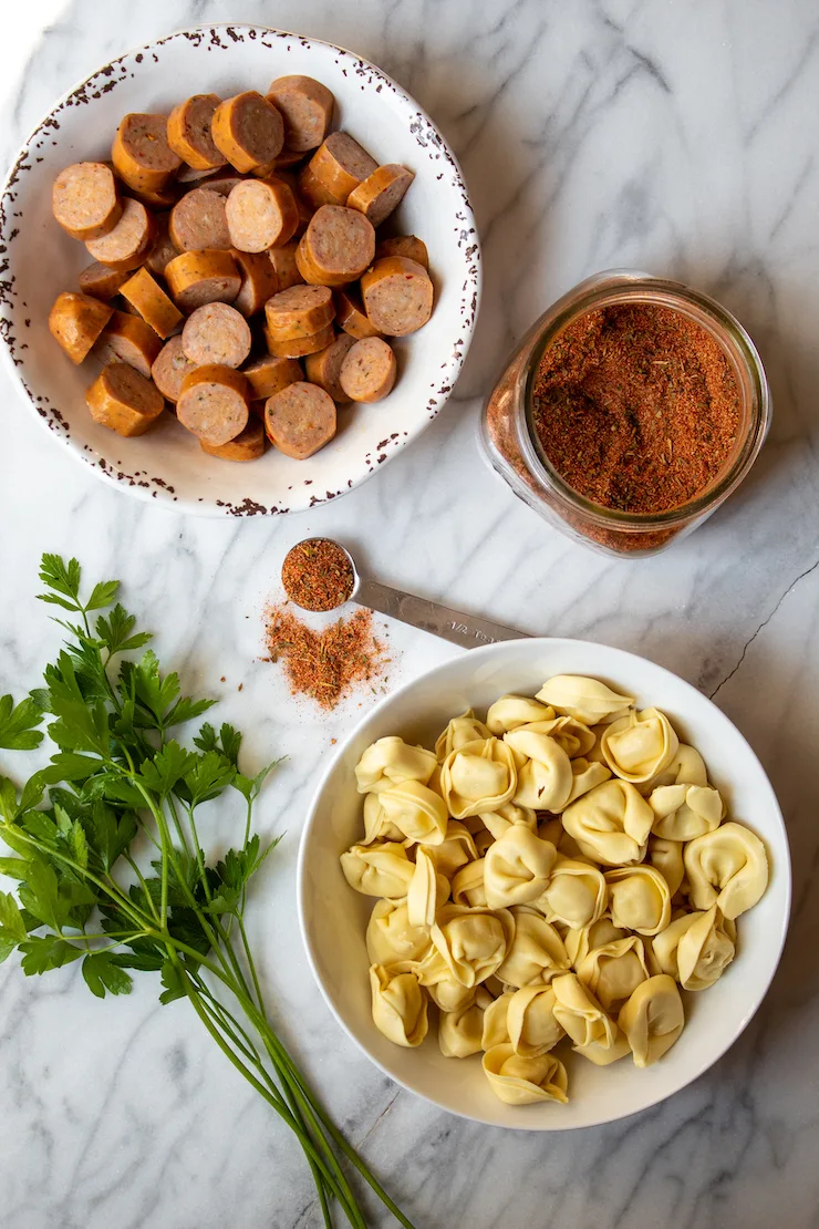
[[[634,785],[613,778],[567,806],[562,821],[587,858],[625,866],[645,858],[654,812]]]

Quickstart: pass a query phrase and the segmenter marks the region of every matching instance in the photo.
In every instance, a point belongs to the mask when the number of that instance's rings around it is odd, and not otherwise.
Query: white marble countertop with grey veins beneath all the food
[[[250,908],[264,977],[336,1120],[419,1229],[815,1225],[815,4],[18,7],[0,44],[4,162],[54,96],[120,49],[198,21],[275,22],[361,52],[431,112],[472,188],[486,281],[448,409],[368,484],[291,520],[195,521],[129,500],[54,447],[0,376],[0,692],[34,686],[54,650],[58,632],[33,602],[37,562],[43,549],[72,552],[90,575],[123,579],[130,603],[160,632],[161,656],[190,686],[223,696],[219,712],[244,728],[249,757],[289,756],[259,816],[286,832]],[[21,48],[54,14],[23,68]],[[776,410],[738,498],[669,553],[614,563],[514,501],[478,455],[475,420],[530,320],[582,277],[626,264],[721,297],[763,351]],[[532,633],[643,653],[713,694],[760,753],[794,854],[791,939],[747,1034],[669,1102],[580,1134],[503,1134],[399,1093],[330,1019],[301,950],[295,859],[316,772],[357,709],[332,720],[295,709],[271,667],[255,660],[260,607],[275,592],[281,557],[317,532],[343,537],[406,589]],[[392,643],[400,664],[390,682],[456,651],[400,627]],[[14,961],[0,968],[0,1223],[318,1224],[297,1147],[185,1005],[160,1009],[155,989],[144,977],[130,999],[101,1004],[76,966],[42,981],[23,978]]]

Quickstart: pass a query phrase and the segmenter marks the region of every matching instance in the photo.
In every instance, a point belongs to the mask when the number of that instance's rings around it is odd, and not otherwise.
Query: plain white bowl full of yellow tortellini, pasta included
[[[399,1084],[534,1131],[646,1109],[761,1003],[790,912],[774,790],[734,725],[605,645],[475,649],[339,750],[300,916],[343,1027]]]

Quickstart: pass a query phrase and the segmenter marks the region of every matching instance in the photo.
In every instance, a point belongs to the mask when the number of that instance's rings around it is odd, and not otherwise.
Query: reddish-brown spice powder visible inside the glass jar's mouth
[[[554,468],[586,499],[664,512],[702,493],[729,460],[739,388],[701,324],[620,304],[572,321],[544,351],[533,423]]]

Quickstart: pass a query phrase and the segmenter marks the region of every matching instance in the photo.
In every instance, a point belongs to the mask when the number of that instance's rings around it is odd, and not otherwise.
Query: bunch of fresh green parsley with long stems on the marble
[[[296,1133],[325,1225],[332,1201],[349,1224],[366,1220],[339,1155],[394,1217],[410,1222],[327,1116],[276,1036],[244,927],[247,885],[276,841],[252,831],[253,804],[275,764],[247,777],[241,734],[205,721],[183,746],[172,731],[214,701],[180,694],[162,675],[150,633],[114,602],[118,581],[80,597],[80,564],[44,554],[41,600],[68,612],[68,633],[45,686],[14,704],[0,697],[0,747],[34,750],[48,721],[48,767],[18,788],[0,777],[0,961],[17,950],[27,975],[80,960],[92,994],[128,994],[134,972],[158,973],[160,1000],[187,999],[214,1041]],[[106,611],[107,613],[102,613]],[[97,613],[96,619],[90,616]],[[114,664],[118,660],[118,666]],[[203,803],[233,791],[242,843],[209,862],[196,833]],[[150,849],[149,859],[142,850]]]

